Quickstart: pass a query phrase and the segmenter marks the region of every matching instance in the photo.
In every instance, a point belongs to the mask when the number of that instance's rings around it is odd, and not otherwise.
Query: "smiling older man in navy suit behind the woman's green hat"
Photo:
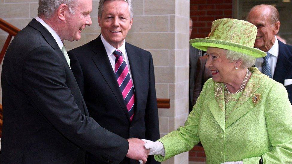
[[[281,24],[279,20],[276,7],[267,4],[252,7],[247,16],[247,21],[258,29],[254,47],[267,53],[266,57],[256,59],[255,67],[282,83],[292,102],[292,46],[276,38]]]

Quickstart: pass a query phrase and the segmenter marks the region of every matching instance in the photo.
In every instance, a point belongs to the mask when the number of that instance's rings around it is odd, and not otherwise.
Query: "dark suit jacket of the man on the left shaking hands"
[[[85,163],[85,150],[118,163],[128,142],[98,125],[49,31],[33,19],[11,42],[2,67],[0,163]]]

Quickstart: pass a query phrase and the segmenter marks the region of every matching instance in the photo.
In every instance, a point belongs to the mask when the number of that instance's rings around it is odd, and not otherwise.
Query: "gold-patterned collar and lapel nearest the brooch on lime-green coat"
[[[226,119],[225,128],[228,128],[233,122],[247,114],[251,109],[254,108],[252,102],[252,97],[261,84],[264,82],[263,75],[257,68],[251,67],[249,70],[253,73],[250,77],[250,80],[247,82],[246,87],[242,91],[241,96],[239,97],[237,103],[235,104],[233,111],[228,115]]]

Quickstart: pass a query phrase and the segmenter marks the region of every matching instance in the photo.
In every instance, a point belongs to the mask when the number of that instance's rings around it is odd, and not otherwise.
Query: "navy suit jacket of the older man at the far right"
[[[279,55],[273,79],[284,85],[285,79],[292,79],[292,46],[279,41]],[[289,101],[292,103],[292,85],[285,86]]]

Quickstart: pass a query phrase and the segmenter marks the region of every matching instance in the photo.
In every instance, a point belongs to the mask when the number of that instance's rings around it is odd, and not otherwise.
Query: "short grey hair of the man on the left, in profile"
[[[51,18],[54,12],[61,4],[67,4],[71,14],[75,14],[75,7],[79,0],[39,0],[39,7],[37,8],[37,16],[44,16],[45,19]]]

